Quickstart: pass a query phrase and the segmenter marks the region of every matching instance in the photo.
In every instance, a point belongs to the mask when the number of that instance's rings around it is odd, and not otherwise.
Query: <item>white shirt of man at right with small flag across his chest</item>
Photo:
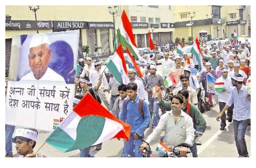
[[[218,101],[219,102],[228,102],[229,94],[231,93],[232,88],[234,87],[231,82],[231,78],[227,77],[224,79],[222,76],[216,80],[216,83],[224,82],[225,91],[221,91],[218,93]]]

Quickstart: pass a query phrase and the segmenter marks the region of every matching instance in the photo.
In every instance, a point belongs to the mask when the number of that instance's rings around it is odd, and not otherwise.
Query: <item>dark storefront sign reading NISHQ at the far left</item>
[[[51,21],[5,20],[5,30],[36,30],[36,26],[38,30],[52,29]]]

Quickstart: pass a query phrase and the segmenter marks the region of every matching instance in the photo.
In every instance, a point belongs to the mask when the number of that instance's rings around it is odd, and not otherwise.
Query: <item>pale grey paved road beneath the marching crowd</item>
[[[158,66],[159,70],[160,66]],[[107,94],[107,98],[110,99],[110,95]],[[234,140],[234,130],[232,122],[227,122],[226,130],[221,131],[220,122],[215,120],[219,112],[219,105],[216,104],[217,96],[213,96],[214,106],[211,111],[204,113],[204,117],[207,123],[207,128],[203,136],[198,138],[198,142],[202,145],[198,146],[198,156],[199,157],[237,157],[237,150]],[[218,103],[218,102],[217,102]],[[152,132],[151,128],[146,129],[145,137],[149,136]],[[44,140],[50,135],[50,132],[39,131],[39,138],[36,144],[35,150],[37,150]],[[247,143],[247,148],[249,150],[249,155],[251,156],[251,126],[247,127],[245,133],[245,139]],[[152,149],[155,149],[158,141],[154,141]],[[13,145],[14,147],[14,145]],[[120,157],[123,148],[123,140],[112,139],[103,143],[102,149],[97,151],[95,147],[91,147],[91,153],[96,157]],[[15,151],[15,148],[13,148]],[[45,144],[40,152],[48,157],[79,157],[79,150],[74,150],[72,152],[62,153],[52,146]],[[15,153],[15,152],[14,152]],[[191,157],[191,154],[189,154]]]

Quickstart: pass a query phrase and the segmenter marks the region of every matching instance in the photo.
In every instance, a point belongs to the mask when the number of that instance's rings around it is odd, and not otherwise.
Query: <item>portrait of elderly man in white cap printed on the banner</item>
[[[47,35],[39,33],[33,35],[28,54],[29,72],[20,80],[50,80],[65,81],[65,79],[48,67],[51,61],[51,49]]]

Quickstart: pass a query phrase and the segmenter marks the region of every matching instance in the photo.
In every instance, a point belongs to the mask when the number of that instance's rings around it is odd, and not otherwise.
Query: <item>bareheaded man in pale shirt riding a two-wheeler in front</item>
[[[159,91],[159,90],[158,90]],[[182,111],[183,98],[181,95],[174,95],[171,98],[172,110],[163,114],[159,120],[157,127],[146,139],[147,142],[152,142],[161,136],[162,131],[165,131],[163,142],[167,146],[176,146],[181,142],[192,142],[195,138],[193,131],[192,118]],[[179,133],[177,133],[179,132]],[[148,147],[145,142],[141,145],[141,150]],[[180,156],[187,156],[188,148],[182,147]]]

